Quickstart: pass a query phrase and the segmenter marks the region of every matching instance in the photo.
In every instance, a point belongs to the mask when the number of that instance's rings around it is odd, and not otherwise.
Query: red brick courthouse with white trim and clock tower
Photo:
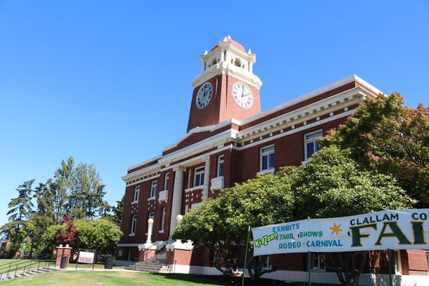
[[[206,254],[193,250],[192,242],[169,240],[177,218],[234,183],[306,163],[318,151],[318,137],[344,123],[365,98],[380,93],[358,76],[349,76],[261,111],[262,81],[253,74],[256,56],[251,50],[246,52],[228,36],[199,60],[202,71],[192,81],[188,130],[162,154],[129,167],[122,177],[124,236],[116,264],[143,261],[166,247],[171,272],[220,274]],[[394,272],[402,285],[429,285],[426,252],[393,254]],[[307,254],[290,255],[293,259],[285,259],[289,264],[262,277],[307,281]],[[325,271],[321,257],[311,260],[313,282],[338,283],[335,273]],[[385,260],[370,259],[360,285],[377,285],[388,274]]]

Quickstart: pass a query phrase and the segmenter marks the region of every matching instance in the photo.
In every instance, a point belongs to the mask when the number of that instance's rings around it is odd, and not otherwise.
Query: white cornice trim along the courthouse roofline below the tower
[[[242,130],[242,131],[237,130],[239,126],[242,126],[244,124],[249,124],[249,123],[251,124],[252,122],[254,122],[259,118],[268,117],[270,114],[273,114],[276,111],[286,109],[286,107],[290,107],[293,104],[302,102],[302,100],[308,100],[311,97],[315,97],[316,95],[320,95],[322,93],[325,93],[339,86],[344,86],[345,84],[351,83],[353,81],[356,81],[360,83],[360,85],[365,86],[365,88],[367,88],[371,92],[368,92],[366,89],[360,88],[360,87],[351,88],[350,90],[346,90],[342,93],[332,95],[331,97],[325,98],[323,100],[319,100],[318,102],[314,102],[313,104],[309,104],[300,109],[290,111],[287,114],[282,114],[281,116],[278,116],[276,118],[266,120],[263,123],[252,125],[251,127],[246,128],[245,130]],[[373,97],[374,94],[379,94],[379,93],[381,92],[377,90],[377,88],[370,86],[368,83],[360,79],[358,76],[349,76],[346,79],[337,81],[336,83],[332,83],[329,86],[325,86],[324,88],[321,88],[314,92],[307,93],[306,95],[302,95],[301,97],[297,97],[297,99],[295,100],[286,102],[285,104],[281,104],[278,107],[274,107],[273,109],[264,111],[260,114],[252,116],[251,118],[247,118],[244,121],[237,121],[236,119],[232,118],[222,123],[219,123],[217,125],[206,126],[203,128],[193,128],[188,132],[187,135],[185,135],[185,137],[178,140],[176,144],[171,145],[170,147],[164,148],[163,153],[167,152],[170,149],[176,148],[180,142],[183,142],[183,140],[185,140],[187,137],[191,136],[192,134],[195,134],[198,132],[215,132],[216,130],[219,130],[220,128],[223,128],[227,125],[231,125],[231,124],[233,125],[232,128],[225,130],[223,132],[220,132],[213,136],[208,135],[206,139],[203,139],[202,141],[199,141],[195,144],[192,144],[187,147],[183,147],[165,156],[157,156],[153,159],[150,159],[138,165],[134,165],[130,167],[128,170],[132,170],[133,168],[138,168],[140,165],[144,165],[145,163],[148,163],[150,161],[157,160],[156,164],[150,165],[147,168],[143,168],[141,170],[137,170],[136,172],[127,174],[123,176],[122,179],[125,182],[130,182],[132,181],[132,179],[145,177],[151,174],[153,175],[153,174],[156,174],[157,172],[160,172],[160,167],[162,165],[167,165],[172,162],[174,163],[181,160],[185,160],[181,162],[181,165],[184,165],[185,167],[193,165],[197,160],[202,160],[202,156],[197,156],[195,158],[190,158],[190,157],[204,152],[208,154],[207,151],[209,151],[209,149],[213,149],[213,147],[220,148],[220,146],[224,146],[228,142],[233,142],[236,146],[248,148],[248,147],[254,146],[255,144],[254,140],[257,139],[258,137],[263,137],[264,135],[268,135],[270,133],[274,133],[279,130],[285,130],[286,128],[289,128],[289,127],[295,128],[294,132],[297,132],[298,130],[302,130],[302,127],[297,128],[296,126],[299,125],[300,123],[303,123],[304,121],[307,122],[307,125],[305,126],[305,128],[310,128],[315,123],[322,124],[328,121],[335,120],[335,118],[342,118],[344,116],[349,116],[349,114],[351,114],[352,111],[355,111],[356,109],[348,110],[337,115],[334,115],[333,111],[344,109],[346,107],[347,109],[349,109],[349,107],[353,104],[361,104],[363,102],[363,99],[365,99],[365,97],[368,97],[368,96]],[[321,118],[321,116],[325,114],[329,114],[330,118],[328,117],[325,119],[321,119],[319,121],[315,121],[314,123],[308,123],[310,120],[313,120],[314,118],[317,118],[317,117]],[[237,128],[234,125],[237,125]],[[288,135],[288,134],[291,134],[290,131],[281,133],[281,136]],[[274,138],[277,138],[277,137],[279,137],[279,135],[273,135],[268,139],[273,140]],[[249,141],[251,142],[250,144],[244,144],[245,142],[249,142]],[[265,142],[265,141],[267,141],[267,139],[261,139],[260,141],[258,141],[258,144],[261,144],[262,142]],[[241,149],[241,147],[239,147],[239,149]],[[206,156],[206,154],[204,156]],[[213,154],[213,152],[210,152],[209,154]],[[156,176],[159,176],[159,174],[154,175],[151,178],[142,179],[139,182],[143,182],[147,179],[153,179]],[[137,183],[138,182],[133,182],[132,184],[137,184]]]

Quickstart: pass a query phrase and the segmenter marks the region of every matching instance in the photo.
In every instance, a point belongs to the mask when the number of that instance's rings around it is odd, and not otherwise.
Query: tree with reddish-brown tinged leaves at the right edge
[[[429,109],[403,103],[399,93],[367,100],[320,144],[351,150],[360,169],[394,177],[417,207],[429,207]]]

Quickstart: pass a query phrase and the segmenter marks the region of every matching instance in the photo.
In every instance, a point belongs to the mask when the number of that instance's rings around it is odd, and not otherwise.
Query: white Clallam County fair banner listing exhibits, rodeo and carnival
[[[253,255],[429,249],[429,209],[303,219],[252,229]]]

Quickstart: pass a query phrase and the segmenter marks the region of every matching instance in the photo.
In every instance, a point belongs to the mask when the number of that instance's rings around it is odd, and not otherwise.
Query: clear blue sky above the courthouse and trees
[[[357,74],[429,105],[429,1],[0,0],[0,225],[62,159],[120,177],[185,135],[199,55],[251,48],[262,110]]]

